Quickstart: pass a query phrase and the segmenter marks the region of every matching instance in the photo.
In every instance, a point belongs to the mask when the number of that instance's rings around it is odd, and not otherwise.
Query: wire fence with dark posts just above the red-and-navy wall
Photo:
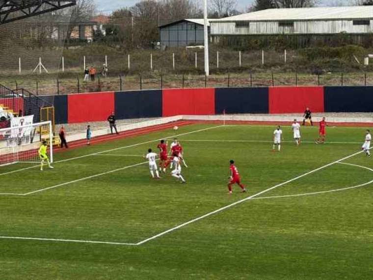
[[[286,85],[373,85],[373,73],[322,74],[303,73],[227,73],[224,75],[122,75],[103,77],[95,81],[82,76],[64,79],[22,79],[6,83],[11,89],[26,88],[36,95],[69,94],[95,91],[119,91],[184,87],[249,87]]]

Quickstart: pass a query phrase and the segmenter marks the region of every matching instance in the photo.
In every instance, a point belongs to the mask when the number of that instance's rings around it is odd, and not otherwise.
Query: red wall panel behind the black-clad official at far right
[[[269,87],[269,113],[324,112],[323,86]]]

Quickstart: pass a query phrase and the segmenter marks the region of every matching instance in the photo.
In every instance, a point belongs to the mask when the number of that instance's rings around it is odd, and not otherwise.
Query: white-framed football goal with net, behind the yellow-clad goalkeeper
[[[44,121],[0,129],[0,166],[15,163],[38,163],[42,141],[48,145],[53,162],[52,122]]]

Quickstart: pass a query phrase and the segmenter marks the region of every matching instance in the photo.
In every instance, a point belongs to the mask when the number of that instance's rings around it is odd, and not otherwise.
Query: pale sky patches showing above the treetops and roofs
[[[137,2],[137,0],[95,0],[97,10],[105,14],[119,9],[121,7],[129,7]],[[237,0],[237,9],[244,10],[245,7],[250,6],[254,0]],[[346,4],[349,0],[319,0],[320,6],[333,5],[333,4]]]

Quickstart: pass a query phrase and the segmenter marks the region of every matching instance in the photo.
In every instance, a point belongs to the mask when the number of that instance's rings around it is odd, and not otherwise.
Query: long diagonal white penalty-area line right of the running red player
[[[167,233],[169,233],[169,232],[171,232],[171,231],[174,231],[174,230],[179,229],[179,228],[181,228],[181,227],[183,227],[183,226],[186,226],[186,225],[188,225],[188,224],[191,224],[191,223],[197,222],[197,221],[202,220],[202,219],[204,219],[204,218],[207,218],[207,217],[209,217],[209,216],[211,216],[211,215],[214,215],[214,214],[216,214],[216,213],[219,213],[219,212],[221,212],[221,211],[224,211],[224,210],[226,210],[226,209],[228,209],[228,208],[231,208],[231,207],[233,207],[233,206],[235,206],[235,205],[237,205],[237,204],[240,204],[240,203],[242,203],[242,202],[245,202],[245,201],[247,201],[247,200],[249,200],[249,199],[253,199],[253,198],[256,197],[256,196],[260,196],[260,195],[262,195],[262,194],[265,194],[265,193],[267,193],[267,192],[269,192],[269,191],[271,191],[271,190],[273,190],[273,189],[276,189],[276,188],[278,188],[278,187],[281,187],[281,186],[283,186],[283,185],[286,185],[286,184],[288,184],[288,183],[290,183],[290,182],[293,182],[293,181],[295,181],[295,180],[297,180],[297,179],[299,179],[299,178],[302,178],[302,177],[304,177],[304,176],[306,176],[306,175],[309,175],[309,174],[311,174],[311,173],[314,173],[314,172],[316,172],[316,171],[319,171],[319,170],[321,170],[321,169],[323,169],[323,168],[326,168],[326,167],[329,167],[329,166],[334,165],[334,164],[336,164],[336,163],[339,163],[339,162],[341,162],[341,161],[344,161],[344,160],[346,160],[346,159],[348,159],[348,158],[351,158],[351,157],[353,157],[353,156],[355,156],[355,155],[358,155],[358,154],[360,154],[360,153],[362,153],[362,152],[363,152],[363,151],[359,151],[359,152],[353,153],[353,154],[351,154],[351,155],[349,155],[349,156],[346,156],[346,157],[344,157],[344,158],[342,158],[342,159],[336,160],[336,161],[334,161],[334,162],[332,162],[332,163],[326,164],[326,165],[324,165],[324,166],[321,166],[321,167],[319,167],[319,168],[313,169],[313,170],[308,171],[308,172],[306,172],[306,173],[303,173],[303,174],[301,174],[301,175],[299,175],[299,176],[296,176],[296,177],[294,177],[293,179],[287,180],[287,181],[285,181],[285,182],[283,182],[283,183],[280,183],[280,184],[277,184],[277,185],[275,185],[275,186],[273,186],[273,187],[270,187],[270,188],[268,188],[268,189],[265,189],[265,190],[263,190],[263,191],[261,191],[261,192],[259,192],[259,193],[256,193],[255,195],[248,196],[248,197],[246,197],[246,198],[240,199],[240,200],[238,200],[238,201],[236,201],[236,202],[233,202],[233,203],[231,203],[231,204],[228,204],[228,205],[226,205],[226,206],[223,206],[223,207],[221,207],[221,208],[218,208],[218,209],[216,209],[216,210],[214,210],[214,211],[212,211],[212,212],[209,212],[209,213],[207,213],[207,214],[205,214],[205,215],[202,215],[202,216],[199,216],[199,217],[197,217],[197,218],[195,218],[195,219],[192,219],[192,220],[190,220],[190,221],[188,221],[188,222],[186,222],[186,223],[183,223],[183,224],[179,224],[179,225],[177,225],[177,226],[174,226],[174,227],[172,227],[172,228],[170,228],[170,229],[167,229],[167,230],[165,230],[165,231],[163,231],[163,232],[160,232],[160,233],[158,233],[158,234],[156,234],[156,235],[154,235],[154,236],[151,236],[151,237],[149,237],[149,238],[147,238],[147,239],[144,239],[144,240],[142,240],[142,241],[136,243],[136,245],[144,244],[144,243],[146,243],[146,242],[148,242],[148,241],[151,241],[151,240],[153,240],[153,239],[156,239],[156,238],[158,238],[158,237],[160,237],[160,236],[162,236],[162,235],[164,235],[164,234],[167,234]]]

